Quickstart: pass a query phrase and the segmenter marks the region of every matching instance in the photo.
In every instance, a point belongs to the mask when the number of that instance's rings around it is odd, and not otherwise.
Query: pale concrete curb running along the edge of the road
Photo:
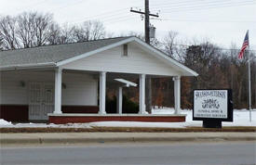
[[[150,143],[150,142],[223,142],[256,141],[254,136],[244,137],[110,137],[110,138],[1,138],[2,145],[47,145],[47,144],[89,144],[89,143]]]

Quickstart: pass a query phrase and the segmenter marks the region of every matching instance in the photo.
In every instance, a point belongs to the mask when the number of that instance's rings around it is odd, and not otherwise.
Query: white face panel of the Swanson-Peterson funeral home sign
[[[227,90],[195,90],[194,118],[227,119]]]

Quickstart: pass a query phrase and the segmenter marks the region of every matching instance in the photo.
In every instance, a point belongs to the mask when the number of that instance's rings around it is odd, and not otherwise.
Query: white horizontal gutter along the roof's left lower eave
[[[28,69],[41,69],[41,68],[55,68],[55,62],[45,62],[38,64],[22,64],[22,65],[8,65],[0,67],[0,70],[28,70]]]

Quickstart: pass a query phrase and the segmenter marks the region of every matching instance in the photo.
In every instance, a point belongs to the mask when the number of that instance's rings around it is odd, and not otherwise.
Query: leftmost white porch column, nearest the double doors
[[[55,100],[54,100],[54,111],[53,113],[61,112],[61,76],[62,70],[55,70]]]

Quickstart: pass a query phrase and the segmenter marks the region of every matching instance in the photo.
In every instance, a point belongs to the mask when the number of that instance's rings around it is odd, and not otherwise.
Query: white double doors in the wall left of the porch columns
[[[29,120],[47,121],[54,108],[54,84],[30,83]]]

